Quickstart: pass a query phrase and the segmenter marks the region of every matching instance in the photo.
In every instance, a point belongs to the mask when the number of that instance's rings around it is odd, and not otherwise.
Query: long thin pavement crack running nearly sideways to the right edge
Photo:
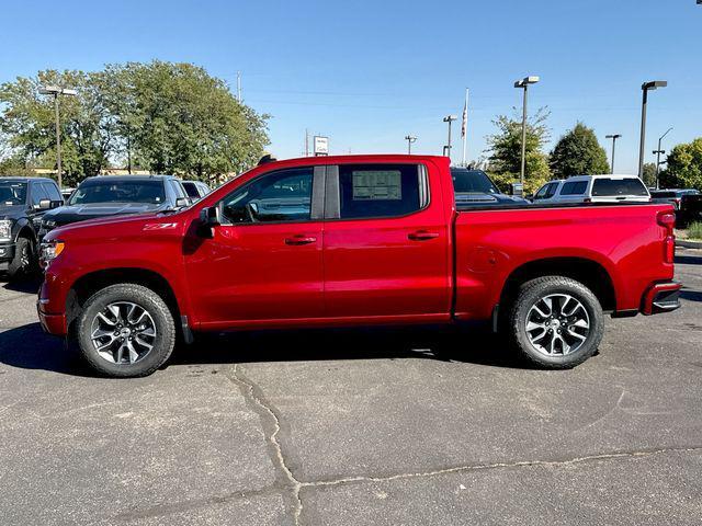
[[[346,478],[333,479],[333,480],[309,481],[309,482],[302,482],[301,485],[303,488],[322,488],[322,487],[330,487],[330,485],[352,484],[356,482],[389,482],[393,480],[400,480],[400,479],[434,477],[438,474],[458,473],[464,471],[478,471],[484,469],[487,470],[487,469],[503,469],[503,468],[523,468],[523,467],[531,467],[531,466],[555,466],[555,467],[573,466],[577,464],[585,464],[585,462],[591,462],[597,460],[650,457],[656,455],[664,455],[667,453],[695,453],[695,451],[702,451],[702,446],[669,447],[669,448],[661,448],[661,449],[624,451],[624,453],[605,453],[600,455],[589,455],[585,457],[569,458],[565,460],[519,460],[514,462],[476,464],[476,465],[467,465],[467,466],[455,466],[452,468],[437,469],[431,471],[397,473],[397,474],[390,474],[386,477],[358,476],[358,477],[346,477]]]

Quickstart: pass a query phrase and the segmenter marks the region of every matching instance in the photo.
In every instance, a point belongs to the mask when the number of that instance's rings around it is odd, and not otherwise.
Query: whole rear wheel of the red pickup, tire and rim
[[[602,341],[604,317],[585,285],[564,276],[545,276],[520,287],[509,313],[509,331],[529,362],[566,369],[595,354]]]

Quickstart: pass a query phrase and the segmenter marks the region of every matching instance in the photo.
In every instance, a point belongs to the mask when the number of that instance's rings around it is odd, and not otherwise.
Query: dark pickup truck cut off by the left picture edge
[[[0,178],[0,273],[12,279],[36,268],[42,216],[63,204],[52,179]]]

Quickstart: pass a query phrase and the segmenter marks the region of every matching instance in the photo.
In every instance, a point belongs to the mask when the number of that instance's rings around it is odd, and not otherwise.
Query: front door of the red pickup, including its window
[[[313,206],[315,185],[324,186],[324,167],[282,169],[219,202],[222,225],[213,229],[214,238],[199,241],[185,255],[203,328],[324,316],[322,221]]]

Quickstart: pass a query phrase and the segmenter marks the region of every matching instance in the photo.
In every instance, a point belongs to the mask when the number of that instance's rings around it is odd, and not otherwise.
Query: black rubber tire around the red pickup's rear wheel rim
[[[564,344],[556,342],[556,352],[554,354],[546,354],[550,351],[546,347],[550,345],[543,345],[542,348],[539,348],[537,345],[540,345],[541,341],[535,344],[532,343],[526,333],[528,316],[530,315],[532,307],[534,307],[541,298],[552,295],[557,296],[561,294],[568,295],[580,302],[587,312],[589,332],[587,333],[585,341],[581,343],[577,339],[573,339],[570,336],[570,332],[567,333],[568,339],[576,342],[573,344],[573,347],[579,345],[575,351],[566,354],[563,352]],[[543,307],[543,304],[540,305]],[[557,318],[557,316],[554,318]],[[575,279],[564,276],[544,276],[524,283],[520,287],[517,298],[509,309],[507,321],[508,335],[520,355],[531,365],[546,369],[568,369],[581,364],[596,353],[604,333],[604,316],[602,315],[602,307],[595,294],[592,294],[592,291],[580,282],[576,282]],[[561,323],[558,320],[551,321],[551,323],[556,322]],[[546,322],[545,325],[551,327],[548,323],[550,322]],[[561,327],[563,325],[554,325],[551,327],[550,330],[552,333],[556,332],[556,330],[561,331]],[[571,327],[573,325],[568,329]],[[564,338],[566,335],[565,329],[566,328],[564,327]],[[584,331],[580,330],[579,332]],[[541,334],[539,329],[534,331],[534,334]],[[558,332],[558,334],[562,333]],[[545,338],[550,336],[546,335]],[[559,346],[561,354],[557,353]]]

